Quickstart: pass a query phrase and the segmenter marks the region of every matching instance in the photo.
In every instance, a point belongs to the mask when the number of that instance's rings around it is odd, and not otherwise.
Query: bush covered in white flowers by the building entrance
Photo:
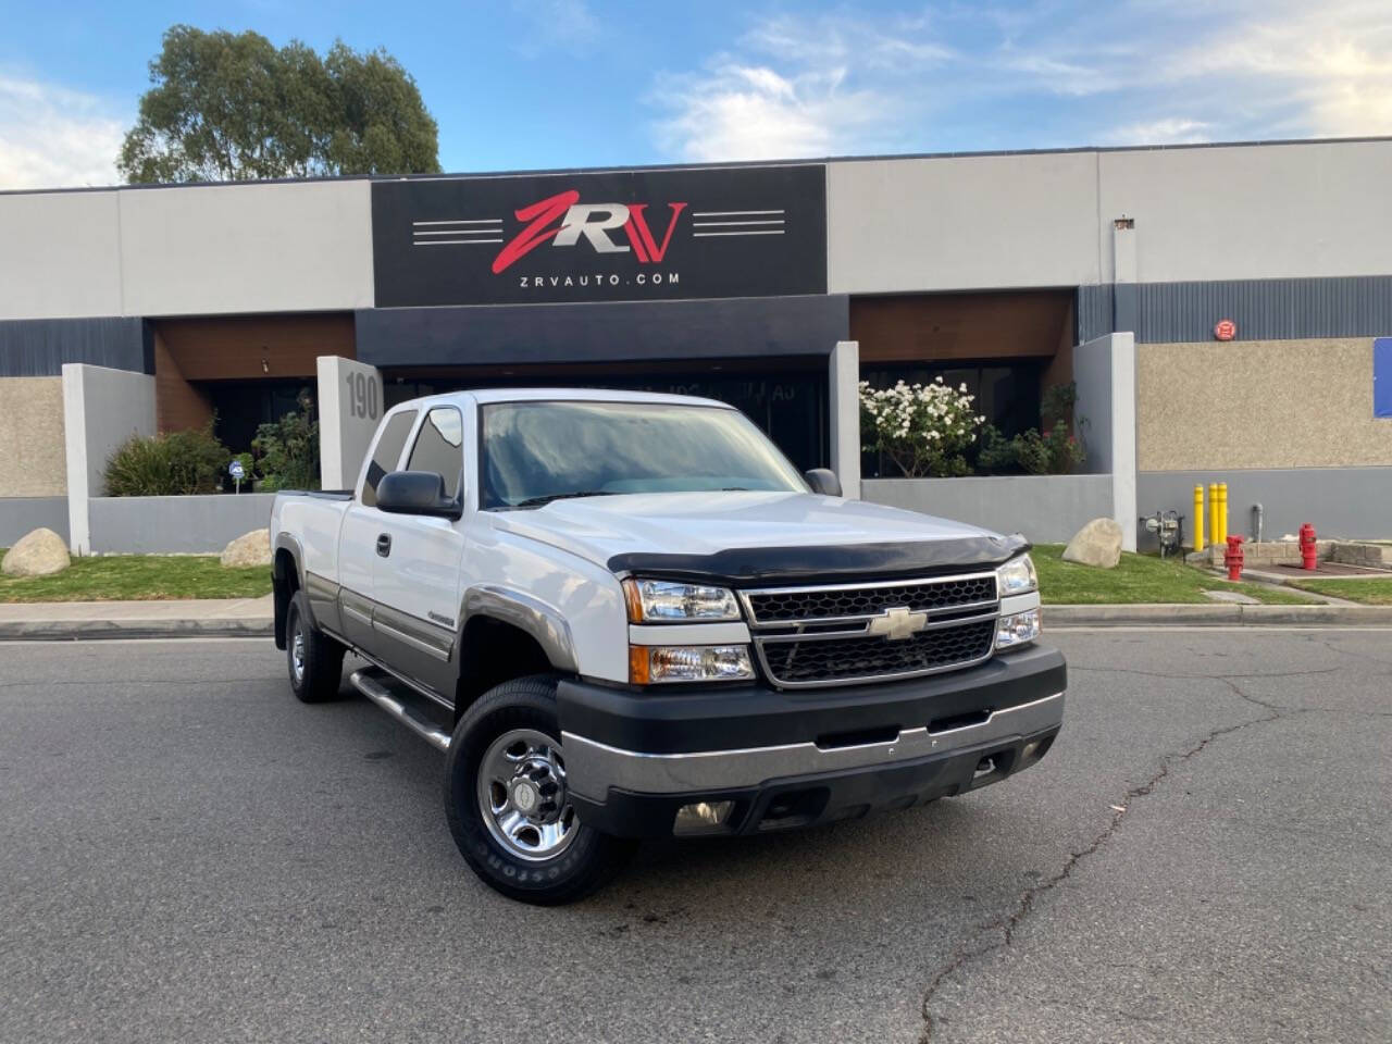
[[[966,475],[963,452],[976,441],[986,418],[973,408],[966,384],[952,388],[938,377],[931,384],[871,388],[860,381],[860,440],[894,461],[905,477]]]

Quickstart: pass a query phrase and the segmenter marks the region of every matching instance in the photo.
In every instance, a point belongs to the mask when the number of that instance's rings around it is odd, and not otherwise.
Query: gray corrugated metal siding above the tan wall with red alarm
[[[1079,287],[1080,344],[1125,329],[1114,306],[1122,288]],[[1208,341],[1219,319],[1237,324],[1239,341],[1392,334],[1392,276],[1137,283],[1134,295],[1139,344]]]

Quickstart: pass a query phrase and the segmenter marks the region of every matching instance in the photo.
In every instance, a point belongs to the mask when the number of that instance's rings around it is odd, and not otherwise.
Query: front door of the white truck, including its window
[[[425,415],[405,469],[440,475],[445,494],[459,496],[464,415],[458,406],[434,406]],[[452,700],[450,656],[458,633],[464,521],[381,512],[379,518],[390,550],[373,562],[374,647],[393,668]]]

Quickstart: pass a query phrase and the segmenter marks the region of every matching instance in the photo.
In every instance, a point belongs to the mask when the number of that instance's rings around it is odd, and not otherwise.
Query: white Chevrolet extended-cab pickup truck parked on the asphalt
[[[1022,537],[856,500],[738,411],[614,391],[391,409],[352,493],[271,512],[276,644],[447,752],[450,830],[516,899],[638,838],[903,809],[1038,761],[1063,657]]]

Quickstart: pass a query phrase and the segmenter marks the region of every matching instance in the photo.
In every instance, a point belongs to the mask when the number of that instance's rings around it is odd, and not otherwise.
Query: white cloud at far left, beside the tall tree
[[[114,185],[124,132],[93,95],[0,75],[0,189]]]

